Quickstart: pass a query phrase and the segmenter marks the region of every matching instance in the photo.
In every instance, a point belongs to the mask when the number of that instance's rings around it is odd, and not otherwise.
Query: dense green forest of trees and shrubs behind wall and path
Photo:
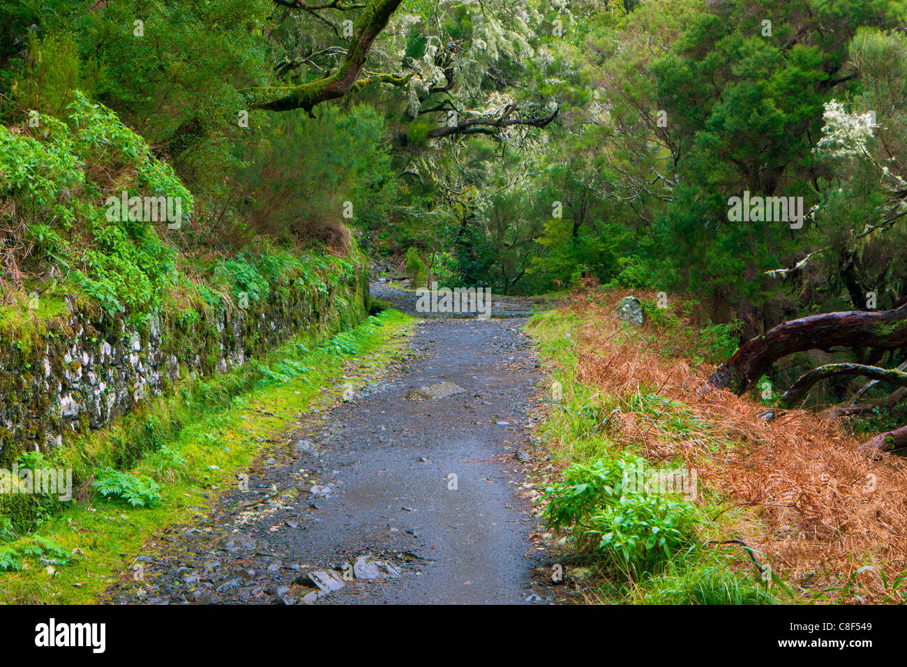
[[[369,264],[654,294],[700,396],[896,448],[907,2],[0,0],[0,243],[4,330]]]

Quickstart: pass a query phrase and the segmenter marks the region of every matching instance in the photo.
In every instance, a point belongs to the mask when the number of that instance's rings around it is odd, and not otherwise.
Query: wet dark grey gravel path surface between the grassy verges
[[[412,358],[301,424],[249,471],[248,491],[167,529],[163,553],[139,558],[144,581],[108,601],[542,602],[520,491],[541,372],[523,323],[422,322]],[[463,391],[407,397],[441,382]]]

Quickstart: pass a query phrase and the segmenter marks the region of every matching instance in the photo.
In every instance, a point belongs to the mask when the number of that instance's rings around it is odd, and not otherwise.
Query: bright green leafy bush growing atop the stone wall
[[[192,197],[171,166],[110,109],[77,90],[73,100],[66,122],[39,114],[29,133],[0,126],[0,197],[15,204],[0,213],[0,225],[22,228],[30,241],[30,254],[15,258],[20,268],[29,262],[35,270],[59,267],[72,287],[108,311],[144,319],[171,283],[175,253],[154,221],[108,220],[108,196],[129,190],[178,198],[184,219]],[[121,173],[134,177],[114,176]]]

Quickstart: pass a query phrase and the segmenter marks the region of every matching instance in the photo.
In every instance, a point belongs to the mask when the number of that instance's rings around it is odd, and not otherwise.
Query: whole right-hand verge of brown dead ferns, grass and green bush
[[[532,318],[557,393],[537,437],[553,467],[540,498],[567,536],[590,601],[903,603],[903,466],[804,410],[767,422],[771,400],[697,388],[727,358],[728,331],[692,299],[642,327],[614,314],[626,290],[590,290]],[[776,398],[776,397],[775,397]],[[634,486],[640,469],[697,488]],[[668,473],[674,471],[674,473]],[[656,477],[657,479],[657,477]]]

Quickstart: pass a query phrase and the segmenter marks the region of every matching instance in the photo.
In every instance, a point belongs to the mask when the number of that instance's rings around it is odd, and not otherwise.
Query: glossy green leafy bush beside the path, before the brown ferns
[[[695,539],[692,505],[625,488],[638,464],[635,456],[573,464],[545,495],[549,527],[570,528],[581,550],[631,575],[657,569]]]

